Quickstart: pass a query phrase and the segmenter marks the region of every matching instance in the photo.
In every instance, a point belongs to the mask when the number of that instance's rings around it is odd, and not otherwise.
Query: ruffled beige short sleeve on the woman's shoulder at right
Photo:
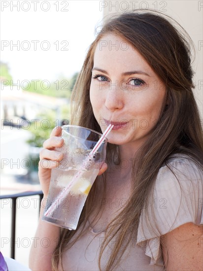
[[[188,156],[173,155],[159,170],[139,220],[136,243],[147,243],[150,264],[164,265],[160,237],[189,222],[203,224],[203,170]]]

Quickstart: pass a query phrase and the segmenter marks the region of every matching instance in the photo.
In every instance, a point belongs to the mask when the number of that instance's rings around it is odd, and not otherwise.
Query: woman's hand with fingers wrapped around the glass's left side
[[[38,176],[45,198],[47,198],[49,191],[51,169],[58,167],[59,161],[63,159],[63,153],[54,150],[55,147],[61,147],[64,144],[61,134],[61,127],[55,127],[51,132],[50,138],[44,141],[43,149],[39,153]]]

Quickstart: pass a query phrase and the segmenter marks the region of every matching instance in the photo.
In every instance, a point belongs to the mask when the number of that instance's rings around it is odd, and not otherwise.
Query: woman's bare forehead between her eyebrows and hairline
[[[106,34],[98,42],[94,54],[94,66],[114,66],[114,68],[151,69],[135,47],[122,36]]]

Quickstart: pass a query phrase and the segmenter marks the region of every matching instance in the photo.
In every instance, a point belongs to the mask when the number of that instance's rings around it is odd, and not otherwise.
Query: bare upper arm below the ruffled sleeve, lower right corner
[[[166,271],[203,270],[202,225],[186,223],[162,236],[161,241]]]

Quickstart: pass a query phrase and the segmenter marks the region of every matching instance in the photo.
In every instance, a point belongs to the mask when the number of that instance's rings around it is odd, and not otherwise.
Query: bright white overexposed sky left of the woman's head
[[[100,2],[1,0],[0,59],[13,81],[53,81],[79,71],[101,24]]]

